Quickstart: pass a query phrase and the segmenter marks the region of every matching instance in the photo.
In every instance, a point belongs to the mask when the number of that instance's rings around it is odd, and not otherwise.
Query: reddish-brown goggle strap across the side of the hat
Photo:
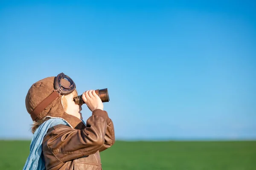
[[[43,111],[53,100],[55,100],[61,93],[58,90],[54,90],[47,98],[45,98],[42,102],[40,102],[32,111],[31,118],[33,121],[38,117],[39,113]]]

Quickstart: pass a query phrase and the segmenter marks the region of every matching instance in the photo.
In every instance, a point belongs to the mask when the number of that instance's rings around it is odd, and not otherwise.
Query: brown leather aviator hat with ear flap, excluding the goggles
[[[26,95],[26,109],[28,113],[31,115],[35,108],[50,94],[52,94],[54,89],[54,78],[55,77],[47,77],[45,79],[41,79],[38,82],[35,82],[30,88]],[[65,81],[65,80],[64,80]],[[36,120],[44,119],[46,117],[52,118],[61,118],[70,124],[71,127],[76,127],[81,120],[76,116],[72,116],[67,114],[64,111],[64,108],[61,104],[61,97],[63,95],[59,95],[50,102],[40,113],[38,114]],[[33,120],[33,118],[32,118]]]

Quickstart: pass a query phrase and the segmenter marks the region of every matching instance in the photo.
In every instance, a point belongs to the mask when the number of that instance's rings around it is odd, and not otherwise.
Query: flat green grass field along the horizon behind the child
[[[22,170],[29,145],[0,141],[0,170]],[[117,141],[101,158],[103,170],[256,170],[256,141]]]

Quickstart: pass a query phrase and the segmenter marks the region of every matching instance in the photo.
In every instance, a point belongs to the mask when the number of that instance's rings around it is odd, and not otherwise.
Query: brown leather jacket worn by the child
[[[56,125],[43,140],[46,170],[102,170],[99,152],[115,142],[112,120],[106,111],[96,109],[75,128]]]

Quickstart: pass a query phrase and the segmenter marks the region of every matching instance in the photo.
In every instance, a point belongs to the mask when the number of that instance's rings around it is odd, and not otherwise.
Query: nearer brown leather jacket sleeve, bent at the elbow
[[[61,162],[96,153],[104,145],[107,118],[106,111],[96,109],[82,130],[68,126],[53,130],[47,141],[49,150]]]

